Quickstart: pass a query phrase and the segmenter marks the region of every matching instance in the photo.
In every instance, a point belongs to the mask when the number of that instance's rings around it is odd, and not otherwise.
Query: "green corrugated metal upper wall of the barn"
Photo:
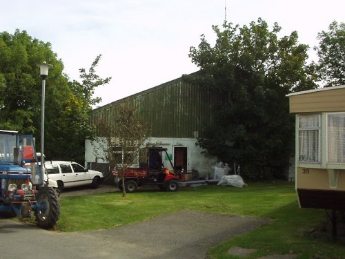
[[[213,123],[215,108],[221,104],[213,91],[188,84],[181,78],[150,88],[117,102],[95,109],[90,123],[105,116],[112,120],[117,105],[130,102],[138,108],[144,121],[152,125],[151,137],[199,137],[206,126]]]

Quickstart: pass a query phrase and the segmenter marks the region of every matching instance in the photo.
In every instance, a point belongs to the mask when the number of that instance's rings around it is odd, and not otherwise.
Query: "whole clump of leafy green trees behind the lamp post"
[[[95,74],[101,56],[88,73],[80,69],[81,83],[63,75],[63,63],[50,43],[33,39],[26,31],[0,33],[0,128],[32,133],[39,150],[41,77],[37,64],[53,67],[46,79],[45,155],[48,159],[83,160],[84,140],[90,136],[88,111],[100,102],[92,94],[107,84]]]

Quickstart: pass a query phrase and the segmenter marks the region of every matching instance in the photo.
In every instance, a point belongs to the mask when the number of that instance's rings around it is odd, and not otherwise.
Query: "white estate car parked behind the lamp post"
[[[99,182],[103,179],[103,173],[85,169],[76,162],[46,161],[44,164],[48,179],[57,181],[60,192],[63,188],[88,184],[98,188]]]

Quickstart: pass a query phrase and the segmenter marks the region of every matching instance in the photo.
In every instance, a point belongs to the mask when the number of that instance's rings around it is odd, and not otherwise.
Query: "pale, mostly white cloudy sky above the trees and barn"
[[[317,33],[344,22],[344,10],[344,0],[11,0],[1,1],[0,32],[26,30],[50,42],[70,79],[102,55],[96,73],[112,77],[95,91],[103,106],[197,71],[190,47],[201,35],[213,46],[212,26],[224,19],[244,26],[261,17],[270,28],[277,22],[280,37],[296,30],[317,61]]]

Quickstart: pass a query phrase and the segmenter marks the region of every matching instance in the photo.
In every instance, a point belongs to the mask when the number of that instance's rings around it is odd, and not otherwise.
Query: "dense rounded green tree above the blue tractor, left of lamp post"
[[[49,80],[67,81],[61,75],[63,64],[49,43],[32,39],[26,31],[14,35],[0,33],[0,128],[37,133],[41,117],[41,78],[37,64],[54,66]],[[50,85],[55,88],[55,85]],[[50,91],[48,90],[48,94]]]

